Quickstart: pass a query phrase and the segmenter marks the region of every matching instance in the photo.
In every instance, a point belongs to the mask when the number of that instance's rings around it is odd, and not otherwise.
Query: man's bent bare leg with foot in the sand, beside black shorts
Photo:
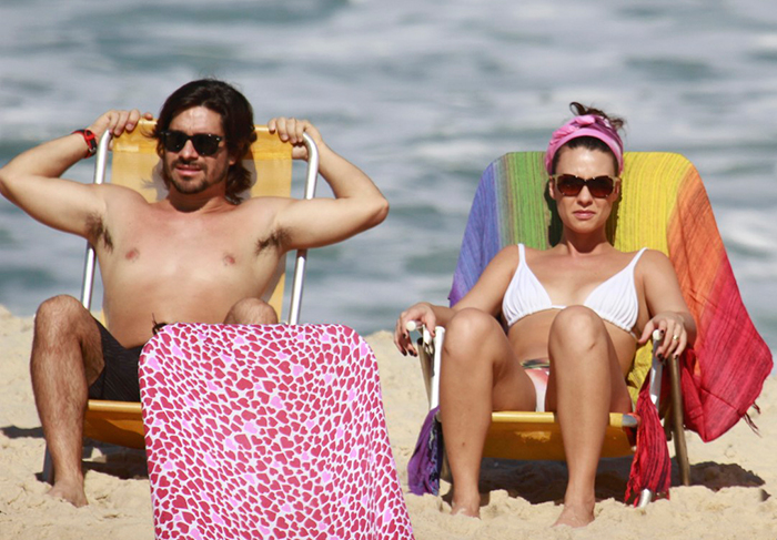
[[[54,485],[49,495],[87,505],[81,471],[87,394],[103,368],[100,332],[90,313],[71,296],[56,296],[38,308],[30,374]]]

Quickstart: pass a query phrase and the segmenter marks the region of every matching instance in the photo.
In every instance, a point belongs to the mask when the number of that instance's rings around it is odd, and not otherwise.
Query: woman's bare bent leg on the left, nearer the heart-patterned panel
[[[494,317],[462,309],[443,345],[440,410],[453,475],[453,513],[478,516],[483,444],[493,410],[534,410],[535,391]]]

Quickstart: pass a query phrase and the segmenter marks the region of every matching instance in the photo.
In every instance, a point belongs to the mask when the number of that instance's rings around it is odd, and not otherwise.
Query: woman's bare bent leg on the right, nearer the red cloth
[[[562,428],[569,482],[556,524],[582,527],[594,519],[594,485],[610,411],[632,401],[604,323],[583,306],[562,310],[548,339],[551,377],[546,406]]]

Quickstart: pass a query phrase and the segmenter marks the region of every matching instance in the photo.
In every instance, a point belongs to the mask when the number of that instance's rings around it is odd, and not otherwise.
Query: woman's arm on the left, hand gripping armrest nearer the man
[[[447,326],[456,312],[464,308],[475,308],[494,316],[498,315],[502,310],[502,299],[517,265],[517,246],[507,246],[488,263],[477,283],[455,306],[444,307],[421,302],[402,312],[394,328],[396,348],[403,355],[417,354],[407,332],[407,323],[411,320],[423,324],[434,335],[436,326]]]

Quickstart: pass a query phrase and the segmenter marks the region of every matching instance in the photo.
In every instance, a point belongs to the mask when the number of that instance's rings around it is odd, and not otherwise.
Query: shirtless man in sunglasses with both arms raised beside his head
[[[306,121],[278,118],[271,132],[306,159],[302,134],[320,151],[335,198],[258,197],[240,162],[253,139],[245,98],[215,80],[188,83],[168,98],[154,136],[168,196],[149,204],[117,185],[60,179],[89,155],[92,134],[120,135],[140,120],[109,111],[85,133],[29,150],[0,170],[0,193],[36,220],[87,238],[95,248],[109,332],[71,296],[38,309],[32,388],[54,470],[51,496],[88,503],[81,448],[87,399],[139,400],[137,359],[155,322],[278,322],[260,297],[290,249],[340,242],[381,223],[389,204],[356,166],[330,150]],[[87,152],[84,152],[87,151]],[[261,181],[261,180],[260,180]]]

